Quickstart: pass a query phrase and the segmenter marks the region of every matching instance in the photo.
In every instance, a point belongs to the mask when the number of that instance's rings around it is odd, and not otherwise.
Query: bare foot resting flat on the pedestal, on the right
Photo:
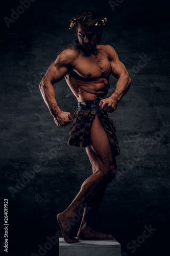
[[[99,240],[113,240],[115,239],[111,234],[105,234],[102,232],[94,231],[90,227],[85,227],[79,229],[77,237],[81,240],[92,240],[92,239],[99,239]]]

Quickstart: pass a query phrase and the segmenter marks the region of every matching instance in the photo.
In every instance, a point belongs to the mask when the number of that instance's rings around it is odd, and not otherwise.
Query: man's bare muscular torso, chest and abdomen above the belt
[[[105,98],[112,72],[107,46],[97,46],[95,54],[87,54],[77,47],[72,47],[71,51],[74,51],[74,60],[65,79],[78,102],[97,96]]]

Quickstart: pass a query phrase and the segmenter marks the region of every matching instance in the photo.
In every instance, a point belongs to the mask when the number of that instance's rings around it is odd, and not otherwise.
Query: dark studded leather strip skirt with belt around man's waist
[[[120,154],[120,150],[115,135],[116,129],[113,121],[108,117],[107,112],[100,108],[99,102],[100,99],[98,98],[95,100],[78,102],[78,110],[75,112],[72,119],[72,125],[69,132],[70,136],[67,144],[87,147],[90,139],[91,125],[97,114],[103,129],[107,134],[111,150],[114,155],[117,156]]]

